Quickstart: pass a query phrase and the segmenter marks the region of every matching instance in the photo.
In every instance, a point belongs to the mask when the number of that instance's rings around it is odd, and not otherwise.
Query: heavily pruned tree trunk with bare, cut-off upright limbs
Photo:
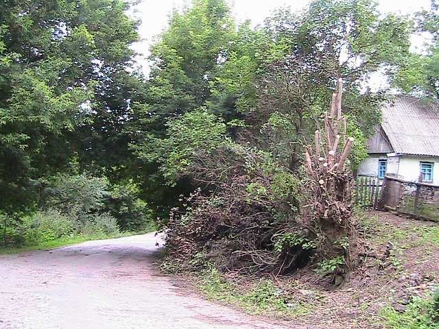
[[[305,152],[304,184],[306,204],[302,207],[305,226],[318,241],[318,260],[337,260],[333,273],[349,276],[356,259],[356,234],[352,223],[353,174],[346,164],[354,138],[346,138],[342,116],[342,80],[332,95],[331,108],[324,116],[324,137],[314,135],[314,145]]]

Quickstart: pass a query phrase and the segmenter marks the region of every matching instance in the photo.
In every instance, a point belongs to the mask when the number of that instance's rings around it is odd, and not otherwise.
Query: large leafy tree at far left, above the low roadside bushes
[[[72,138],[78,127],[111,112],[106,88],[126,76],[137,40],[127,8],[123,0],[0,1],[1,210],[32,204],[32,182],[85,150]]]

